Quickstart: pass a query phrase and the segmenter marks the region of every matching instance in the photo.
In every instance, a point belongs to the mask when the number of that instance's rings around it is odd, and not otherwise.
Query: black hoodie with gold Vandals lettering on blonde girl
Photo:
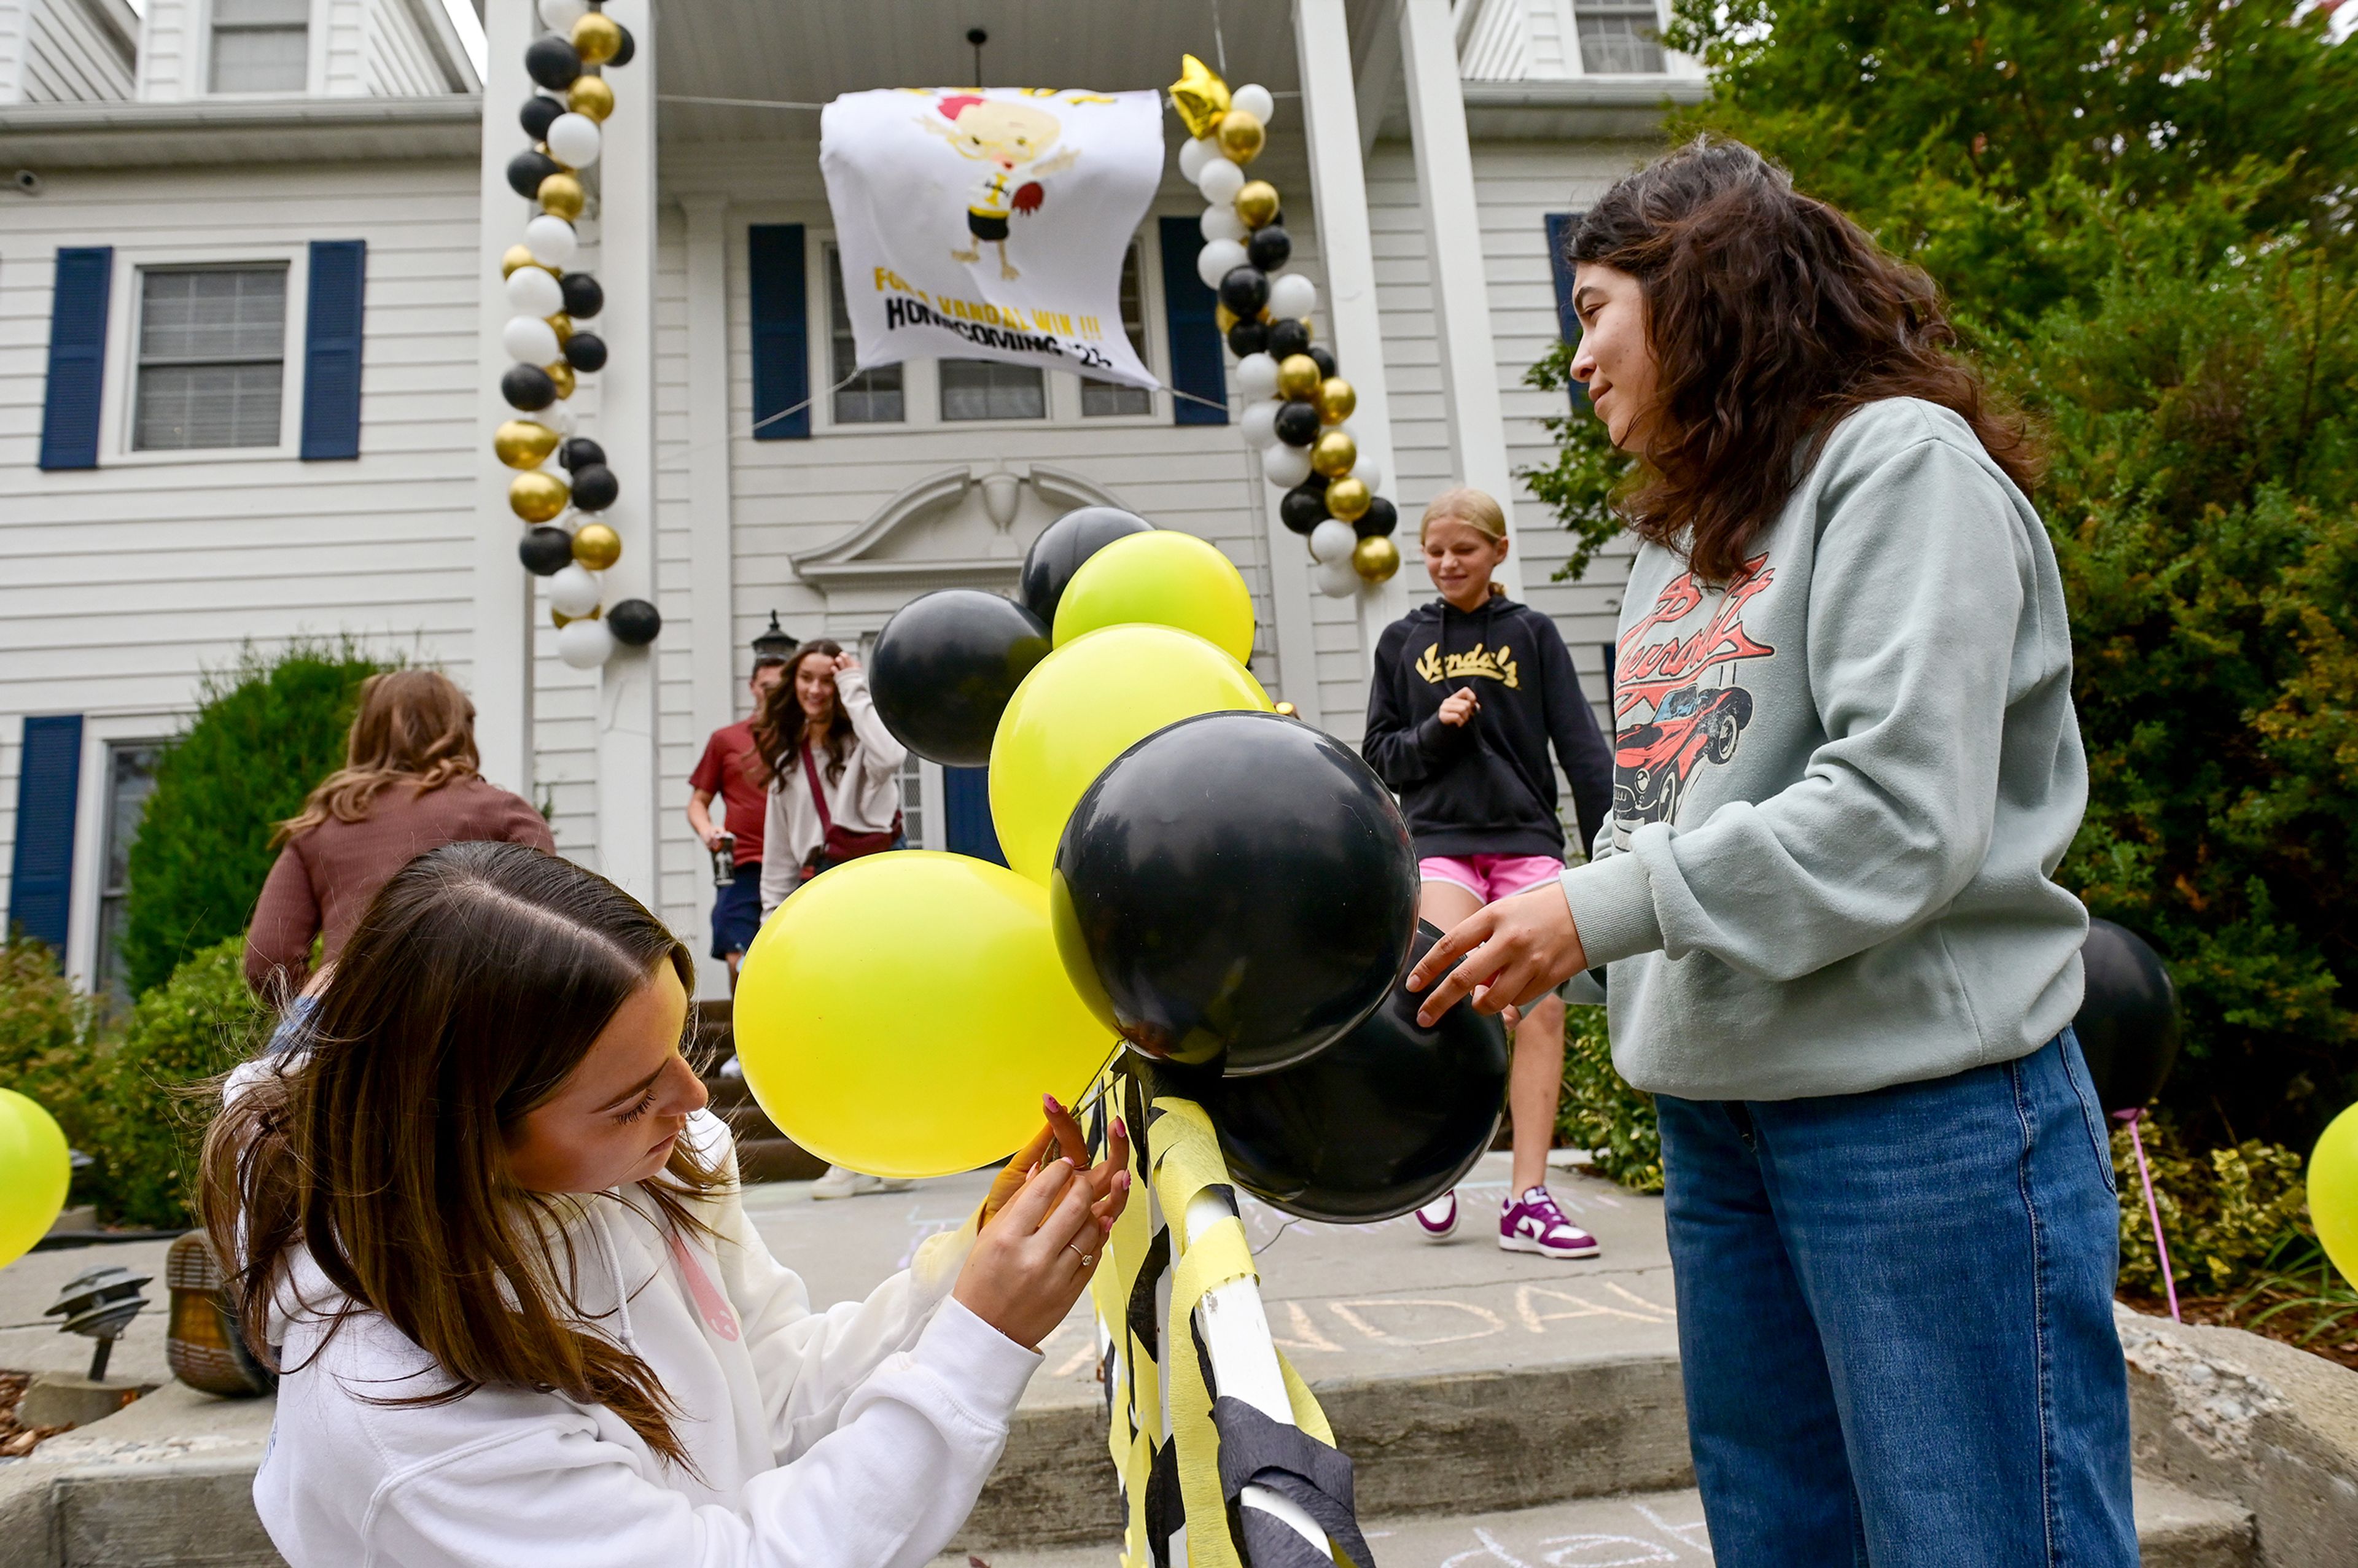
[[[1443,724],[1464,686],[1481,707]],[[1434,599],[1384,627],[1361,755],[1401,797],[1417,856],[1561,856],[1549,740],[1587,851],[1613,809],[1613,755],[1556,622],[1490,594],[1471,615]]]

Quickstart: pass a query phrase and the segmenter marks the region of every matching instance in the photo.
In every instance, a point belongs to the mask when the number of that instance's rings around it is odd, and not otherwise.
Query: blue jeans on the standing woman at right
[[[1655,1106],[1719,1568],[2134,1568],[2120,1207],[2070,1030],[1875,1094]]]

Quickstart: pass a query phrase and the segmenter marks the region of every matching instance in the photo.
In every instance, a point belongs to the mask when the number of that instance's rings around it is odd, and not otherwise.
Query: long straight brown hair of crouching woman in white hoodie
[[[307,1247],[349,1297],[328,1335],[382,1313],[448,1377],[389,1403],[523,1386],[606,1405],[686,1464],[663,1384],[587,1325],[568,1221],[601,1198],[523,1191],[502,1129],[549,1099],[615,1009],[689,950],[630,894],[523,844],[450,844],[377,894],[335,981],[205,1134],[205,1231],[238,1269],[248,1344]],[[641,1181],[672,1226],[724,1184],[681,1139]],[[325,1342],[323,1342],[325,1344]]]

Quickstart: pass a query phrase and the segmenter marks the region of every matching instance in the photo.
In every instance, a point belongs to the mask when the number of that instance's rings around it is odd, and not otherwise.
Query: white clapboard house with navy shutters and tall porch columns
[[[474,693],[486,773],[691,938],[712,894],[686,773],[743,714],[769,615],[856,644],[917,592],[1009,587],[1073,505],[1217,542],[1254,589],[1257,674],[1358,736],[1368,648],[1422,573],[1318,597],[1214,408],[976,363],[830,396],[851,365],[830,97],[962,83],[976,26],[988,83],[1151,87],[1196,52],[1271,87],[1254,174],[1287,196],[1361,448],[1412,528],[1436,490],[1514,495],[1544,460],[1561,394],[1521,377],[1566,330],[1552,219],[1702,94],[1655,0],[606,9],[637,57],[580,224],[611,361],[573,408],[623,483],[608,599],[653,599],[665,630],[575,672],[490,453],[500,255],[531,212],[505,179],[528,0],[481,7],[488,83],[441,0],[0,0],[0,908],[68,971],[104,983],[153,745],[245,641],[351,634],[441,665]],[[1172,170],[1125,316],[1167,384],[1226,401],[1200,210]],[[1620,561],[1554,582],[1563,535],[1528,493],[1514,526],[1509,587],[1601,693]],[[979,780],[931,764],[908,818],[934,846],[988,832]]]

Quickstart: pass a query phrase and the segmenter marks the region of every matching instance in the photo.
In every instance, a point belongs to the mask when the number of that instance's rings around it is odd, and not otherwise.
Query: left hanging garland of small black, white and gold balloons
[[[656,641],[663,615],[646,599],[604,606],[594,573],[623,559],[623,535],[599,521],[623,486],[606,467],[606,448],[573,434],[566,398],[578,373],[606,365],[606,340],[578,323],[606,309],[606,290],[585,271],[566,271],[580,248],[573,219],[590,196],[582,170],[597,163],[613,113],[604,71],[630,64],[630,31],[599,9],[601,0],[540,0],[549,28],[523,50],[523,68],[542,87],[523,99],[523,134],[533,146],[507,163],[507,184],[540,212],[523,224],[523,243],[500,257],[509,316],[500,342],[516,363],[500,377],[500,394],[516,410],[493,434],[493,450],[516,476],[507,505],[523,519],[516,554],[526,571],[549,580],[556,655],[575,670],[613,658],[615,644]],[[564,94],[564,99],[549,97]]]

